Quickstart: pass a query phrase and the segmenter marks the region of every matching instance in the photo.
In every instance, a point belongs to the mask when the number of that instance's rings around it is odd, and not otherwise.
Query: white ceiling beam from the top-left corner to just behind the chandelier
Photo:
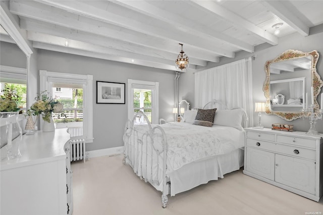
[[[35,20],[51,23],[54,25],[63,26],[70,29],[80,30],[92,34],[97,34],[104,37],[110,37],[113,39],[122,39],[125,43],[133,43],[142,45],[144,47],[159,49],[163,51],[171,51],[173,53],[179,53],[180,47],[176,41],[167,41],[158,37],[149,37],[146,34],[131,31],[128,29],[120,29],[120,27],[113,26],[100,21],[93,21],[93,19],[79,16],[71,16],[70,13],[62,11],[55,12],[49,6],[45,5],[35,6],[35,2],[11,2],[10,10],[13,14],[17,14],[22,17],[28,17]],[[41,7],[42,6],[42,7]],[[38,7],[38,8],[37,8]],[[41,8],[39,8],[41,7]],[[56,9],[58,10],[58,9]],[[58,16],[58,14],[60,16]],[[207,58],[211,62],[219,62],[219,57],[211,57],[210,51],[195,48],[190,45],[185,46],[185,51],[189,57],[198,59]],[[204,56],[204,57],[203,57]],[[211,59],[210,59],[211,58]]]

